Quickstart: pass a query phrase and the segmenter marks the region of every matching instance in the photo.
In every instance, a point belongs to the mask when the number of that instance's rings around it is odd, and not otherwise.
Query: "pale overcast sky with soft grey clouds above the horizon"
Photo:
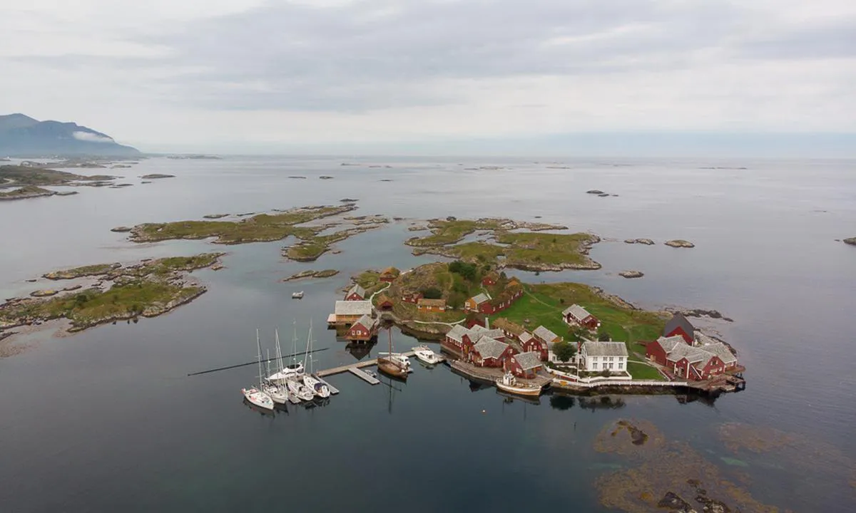
[[[145,151],[856,156],[853,0],[0,0],[0,75]]]

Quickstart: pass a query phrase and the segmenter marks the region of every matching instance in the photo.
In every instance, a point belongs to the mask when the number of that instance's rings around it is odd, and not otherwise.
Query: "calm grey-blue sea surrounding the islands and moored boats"
[[[482,168],[491,166],[499,168]],[[0,203],[0,297],[90,263],[227,251],[226,268],[195,271],[209,291],[168,315],[64,338],[33,333],[21,339],[29,350],[0,359],[3,513],[615,511],[600,504],[596,481],[633,462],[595,451],[593,441],[618,418],[653,422],[764,504],[856,510],[856,248],[835,241],[856,236],[854,161],[229,156],[151,158],[108,173],[134,186]],[[176,177],[141,184],[149,173]],[[586,194],[594,188],[617,196]],[[280,256],[288,240],[137,245],[110,232],[341,198],[359,199],[358,215],[405,220],[308,263]],[[740,352],[746,390],[714,402],[547,396],[530,404],[471,386],[448,367],[418,366],[392,386],[333,376],[342,393],[329,403],[269,416],[242,402],[254,366],[187,375],[253,361],[256,328],[265,347],[276,327],[290,347],[295,323],[300,349],[314,326],[315,347],[325,350],[317,369],[366,357],[324,329],[333,302],[362,269],[430,262],[401,243],[413,235],[409,223],[447,215],[540,216],[599,234],[591,257],[600,270],[514,274],[600,286],[645,308],[720,310],[734,322],[698,324]],[[622,242],[642,237],[696,247]],[[307,268],[342,273],[281,282]],[[625,280],[624,269],[645,277]],[[292,300],[298,290],[306,298]],[[395,333],[395,345],[416,340]],[[718,435],[733,422],[790,433],[804,457],[735,456]]]

